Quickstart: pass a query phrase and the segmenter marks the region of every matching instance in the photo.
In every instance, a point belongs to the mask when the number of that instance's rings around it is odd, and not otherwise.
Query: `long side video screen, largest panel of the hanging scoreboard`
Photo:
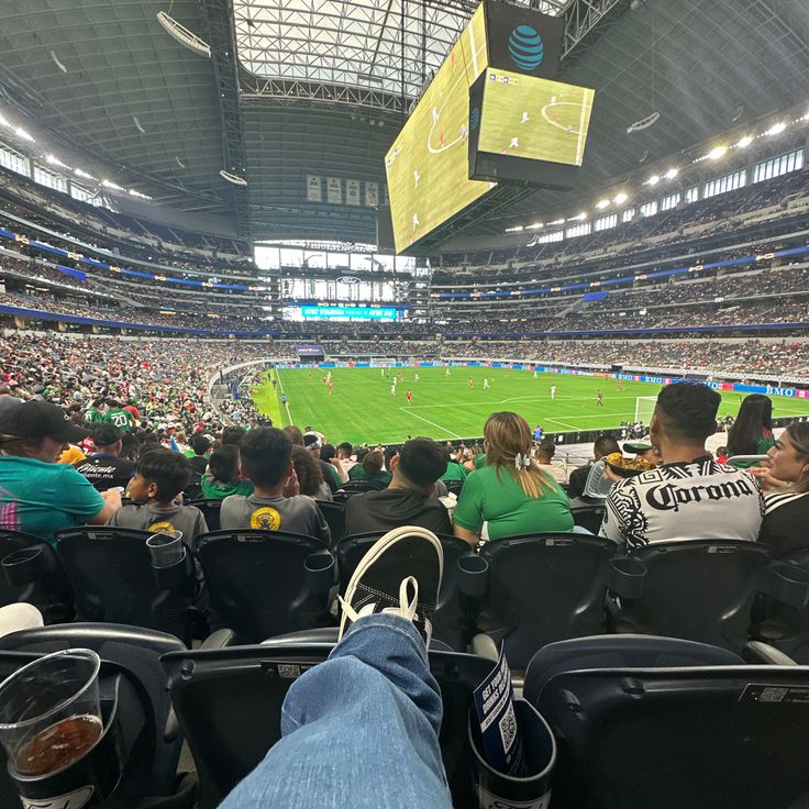
[[[469,86],[487,64],[480,5],[385,157],[397,253],[491,188],[468,177]]]

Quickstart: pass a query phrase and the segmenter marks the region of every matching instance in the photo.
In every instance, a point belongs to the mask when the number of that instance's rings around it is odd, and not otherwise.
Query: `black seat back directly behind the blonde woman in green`
[[[513,668],[553,641],[603,631],[607,562],[616,545],[599,536],[548,533],[488,542],[488,591],[477,627],[506,644]]]

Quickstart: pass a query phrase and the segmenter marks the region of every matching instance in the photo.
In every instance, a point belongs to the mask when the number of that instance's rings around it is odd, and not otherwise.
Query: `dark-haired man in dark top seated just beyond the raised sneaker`
[[[435,481],[446,472],[446,447],[431,439],[411,439],[390,461],[387,489],[354,495],[345,507],[345,535],[420,525],[452,533],[446,507],[435,497]]]

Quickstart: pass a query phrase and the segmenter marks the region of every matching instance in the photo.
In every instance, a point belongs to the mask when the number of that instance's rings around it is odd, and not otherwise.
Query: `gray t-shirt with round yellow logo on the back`
[[[289,531],[331,542],[331,533],[314,500],[296,497],[258,497],[231,495],[222,500],[219,516],[223,529],[261,529]]]

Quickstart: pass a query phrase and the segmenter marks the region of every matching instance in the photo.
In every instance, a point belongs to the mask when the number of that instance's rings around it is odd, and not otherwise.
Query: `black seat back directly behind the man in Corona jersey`
[[[741,540],[656,542],[632,554],[643,594],[623,602],[618,631],[685,638],[740,652],[749,640],[765,545]]]

